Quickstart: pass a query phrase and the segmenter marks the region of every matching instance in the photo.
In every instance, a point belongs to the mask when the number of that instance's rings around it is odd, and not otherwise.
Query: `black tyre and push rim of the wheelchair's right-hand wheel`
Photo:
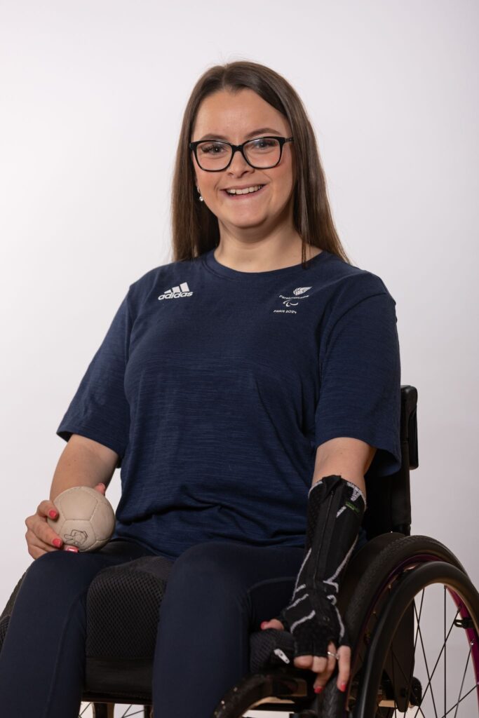
[[[465,605],[464,615],[468,620],[460,626],[468,626],[464,647],[468,648],[469,658],[473,658],[475,671],[479,671],[479,594],[465,569],[456,556],[434,538],[391,535],[391,541],[386,542],[368,564],[358,589],[343,609],[353,646],[351,678],[345,694],[338,691],[335,676],[328,681],[320,699],[322,718],[393,718],[394,706],[398,707],[396,715],[404,715],[404,708],[399,712],[401,699],[396,702],[393,696],[391,700],[394,689],[383,666],[391,656],[393,637],[404,620],[401,617],[408,610],[412,615],[414,596],[432,583],[449,587]],[[468,640],[475,641],[476,648],[472,651],[467,645]],[[417,636],[414,643],[417,647]],[[394,651],[392,655],[394,671]],[[417,700],[421,684],[409,676],[406,690],[409,695],[404,696],[403,701]],[[418,705],[417,702],[414,705]],[[457,718],[461,716],[461,707],[459,704]],[[470,712],[463,715],[470,718]]]

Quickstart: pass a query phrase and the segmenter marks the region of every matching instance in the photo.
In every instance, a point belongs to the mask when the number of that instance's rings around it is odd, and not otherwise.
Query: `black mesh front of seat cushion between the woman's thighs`
[[[87,657],[153,658],[171,568],[163,556],[143,556],[96,574],[86,600]]]

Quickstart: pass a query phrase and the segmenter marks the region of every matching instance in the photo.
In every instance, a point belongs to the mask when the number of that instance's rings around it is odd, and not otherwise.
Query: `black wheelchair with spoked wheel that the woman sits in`
[[[345,693],[332,676],[316,695],[316,674],[294,666],[292,635],[267,629],[251,633],[250,672],[212,718],[251,711],[287,718],[479,715],[479,594],[446,546],[410,535],[409,471],[418,465],[417,390],[405,385],[401,468],[376,477],[373,462],[366,474],[368,541],[350,560],[338,597],[351,643]],[[119,704],[129,706],[125,717],[153,717],[154,641],[167,584],[155,561],[147,556],[103,569],[88,589],[83,701],[93,718],[113,718]],[[0,616],[0,650],[24,575]]]

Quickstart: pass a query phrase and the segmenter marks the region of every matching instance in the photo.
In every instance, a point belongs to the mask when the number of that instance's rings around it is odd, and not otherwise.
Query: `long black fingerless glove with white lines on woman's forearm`
[[[327,646],[349,645],[338,608],[340,580],[361,527],[366,501],[341,476],[310,489],[304,559],[289,605],[277,616],[294,637],[294,656],[327,656]]]

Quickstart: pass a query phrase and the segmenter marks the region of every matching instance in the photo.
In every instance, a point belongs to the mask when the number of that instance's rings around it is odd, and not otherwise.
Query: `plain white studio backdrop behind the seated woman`
[[[32,561],[24,519],[60,419],[129,284],[172,261],[192,86],[233,60],[305,103],[341,241],[396,299],[419,392],[413,533],[479,585],[477,2],[3,0],[0,20],[0,610]]]

